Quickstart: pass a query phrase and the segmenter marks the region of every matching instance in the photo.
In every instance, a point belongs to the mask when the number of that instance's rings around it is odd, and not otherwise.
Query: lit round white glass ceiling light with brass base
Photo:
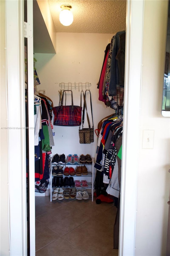
[[[59,16],[59,20],[62,25],[70,26],[73,23],[73,13],[70,11],[72,8],[71,5],[61,5],[61,13]]]

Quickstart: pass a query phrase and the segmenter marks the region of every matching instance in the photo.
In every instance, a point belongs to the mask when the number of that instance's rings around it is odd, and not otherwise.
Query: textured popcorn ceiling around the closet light
[[[126,29],[126,0],[48,0],[56,32],[116,33]],[[62,4],[72,6],[74,21],[63,26],[59,21]]]

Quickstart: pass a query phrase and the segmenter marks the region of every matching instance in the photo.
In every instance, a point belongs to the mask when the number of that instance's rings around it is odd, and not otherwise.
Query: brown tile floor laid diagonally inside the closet
[[[90,199],[35,197],[36,256],[117,256],[116,212],[114,204]]]

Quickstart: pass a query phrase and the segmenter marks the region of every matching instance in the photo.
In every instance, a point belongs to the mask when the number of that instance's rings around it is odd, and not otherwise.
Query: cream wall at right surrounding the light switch
[[[169,196],[169,118],[162,117],[167,1],[145,1],[141,145],[135,255],[165,255]],[[155,131],[154,149],[142,149],[142,131]]]

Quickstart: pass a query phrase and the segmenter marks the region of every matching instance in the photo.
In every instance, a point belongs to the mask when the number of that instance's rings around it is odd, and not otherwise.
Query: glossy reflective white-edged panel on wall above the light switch
[[[167,40],[165,52],[163,97],[162,97],[162,115],[170,117],[170,1],[168,1],[168,20],[167,20]]]

